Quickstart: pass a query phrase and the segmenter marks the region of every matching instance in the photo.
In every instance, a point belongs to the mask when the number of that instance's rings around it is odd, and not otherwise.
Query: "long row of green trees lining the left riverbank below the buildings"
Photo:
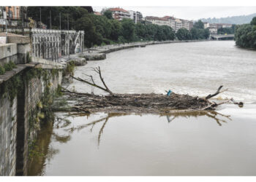
[[[202,21],[195,23],[192,31],[181,30],[175,33],[167,25],[147,24],[145,21],[135,24],[131,19],[113,20],[112,12],[106,11],[98,16],[87,12],[84,7],[28,7],[28,15],[39,21],[39,9],[41,8],[42,23],[50,27],[49,15],[51,12],[51,24],[53,29],[59,29],[59,17],[61,13],[61,29],[67,29],[67,17],[69,17],[69,30],[85,31],[86,47],[94,47],[105,44],[122,44],[132,41],[165,41],[189,39],[207,39],[208,29],[203,29]]]

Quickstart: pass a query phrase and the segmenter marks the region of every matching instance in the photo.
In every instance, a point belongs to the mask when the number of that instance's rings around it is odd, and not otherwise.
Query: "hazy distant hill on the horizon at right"
[[[202,18],[203,22],[208,23],[230,23],[230,24],[244,24],[250,23],[252,18],[256,17],[256,13],[251,15],[242,15],[242,16],[234,16],[234,17],[220,17],[220,18]]]

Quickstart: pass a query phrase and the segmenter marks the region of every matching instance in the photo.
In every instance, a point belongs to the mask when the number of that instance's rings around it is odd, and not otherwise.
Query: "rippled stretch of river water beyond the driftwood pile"
[[[159,44],[121,50],[106,60],[90,61],[75,76],[92,74],[100,66],[110,90],[118,93],[173,92],[205,96],[219,85],[229,88],[222,98],[256,101],[256,51],[239,49],[234,41]],[[85,91],[75,81],[70,87]],[[87,87],[91,92],[91,87]],[[94,92],[99,93],[94,89]]]

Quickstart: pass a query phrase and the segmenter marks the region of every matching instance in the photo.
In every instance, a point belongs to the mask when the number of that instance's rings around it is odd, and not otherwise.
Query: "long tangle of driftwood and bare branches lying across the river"
[[[110,91],[102,77],[100,68],[94,68],[94,71],[99,74],[103,86],[96,84],[91,75],[89,79],[81,79],[80,77],[72,76],[73,79],[97,87],[100,90],[108,92],[109,95],[94,95],[90,93],[72,92],[62,87],[62,91],[67,95],[69,100],[77,100],[77,103],[70,106],[72,111],[82,113],[90,113],[96,111],[108,112],[135,112],[135,113],[175,113],[181,111],[206,111],[214,110],[217,106],[232,101],[238,106],[243,106],[243,103],[236,102],[233,98],[216,103],[209,100],[216,95],[219,95],[223,86],[220,86],[214,94],[210,94],[205,98],[193,97],[190,95],[181,95],[172,92],[170,95],[163,94],[117,94]]]

